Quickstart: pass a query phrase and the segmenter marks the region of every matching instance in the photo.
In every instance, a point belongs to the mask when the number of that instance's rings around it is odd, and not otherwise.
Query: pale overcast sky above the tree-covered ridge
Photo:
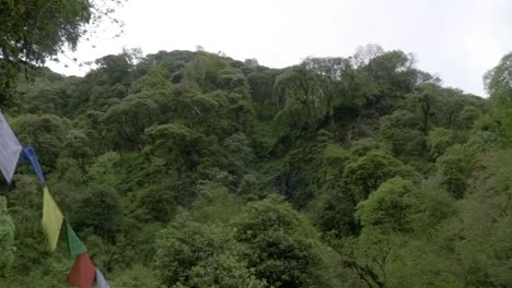
[[[484,96],[482,74],[512,50],[511,13],[509,0],[128,0],[117,11],[126,24],[121,37],[100,31],[67,57],[91,61],[123,47],[146,55],[200,45],[282,68],[379,44],[415,53],[418,67],[439,74],[445,86]],[[61,59],[50,68],[85,72]]]

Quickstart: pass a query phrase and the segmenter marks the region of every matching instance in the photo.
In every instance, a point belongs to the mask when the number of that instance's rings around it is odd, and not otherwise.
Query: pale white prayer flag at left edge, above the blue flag
[[[7,182],[11,183],[23,147],[1,112],[0,140],[0,170]]]

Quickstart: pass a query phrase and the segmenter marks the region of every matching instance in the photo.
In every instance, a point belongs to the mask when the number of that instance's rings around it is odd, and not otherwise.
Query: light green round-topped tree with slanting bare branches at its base
[[[403,235],[412,231],[419,204],[415,194],[410,181],[400,177],[387,180],[357,206],[361,235],[335,241],[344,266],[368,287],[388,287],[389,266],[404,242]]]

